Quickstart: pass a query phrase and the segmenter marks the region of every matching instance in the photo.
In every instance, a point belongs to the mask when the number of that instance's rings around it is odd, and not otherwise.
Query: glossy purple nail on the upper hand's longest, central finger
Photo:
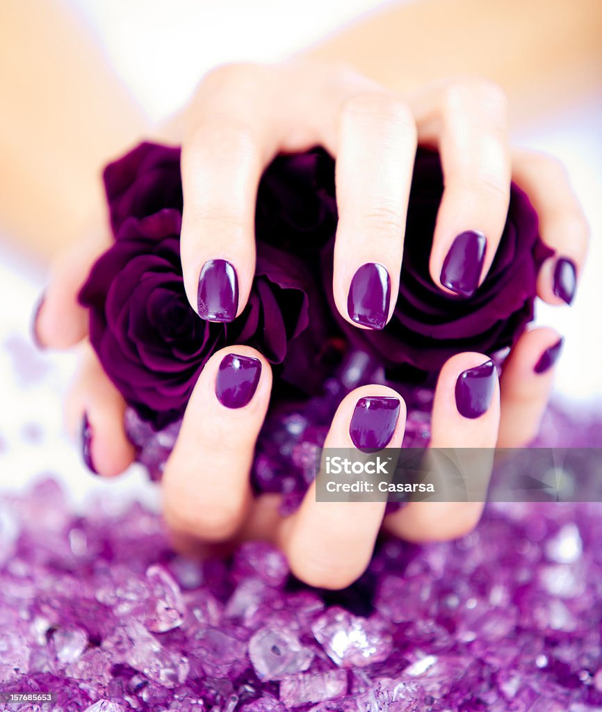
[[[389,316],[391,280],[389,272],[377,263],[368,262],[354,274],[349,295],[349,318],[371,329],[382,329]]]

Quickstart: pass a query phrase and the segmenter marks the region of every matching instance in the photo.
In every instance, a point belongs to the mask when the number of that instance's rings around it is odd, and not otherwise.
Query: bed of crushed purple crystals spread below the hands
[[[461,540],[381,540],[332,592],[265,543],[187,560],[139,504],[81,518],[43,481],[0,501],[0,691],[55,691],[56,712],[599,712],[601,515],[489,504]]]

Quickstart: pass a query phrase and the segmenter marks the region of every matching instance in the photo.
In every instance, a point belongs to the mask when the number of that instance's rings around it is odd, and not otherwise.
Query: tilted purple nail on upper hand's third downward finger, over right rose
[[[468,230],[453,241],[443,261],[441,284],[463,297],[472,297],[479,286],[487,238]]]

